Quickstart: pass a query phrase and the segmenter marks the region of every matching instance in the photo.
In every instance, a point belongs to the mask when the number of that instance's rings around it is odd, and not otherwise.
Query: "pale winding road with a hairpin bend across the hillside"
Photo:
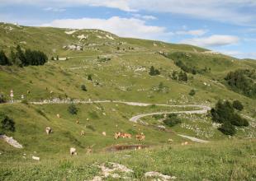
[[[21,100],[16,100],[14,103],[8,102],[7,104],[15,104],[19,103]],[[119,103],[119,104],[127,104],[132,106],[149,106],[153,104],[148,103],[140,103],[140,102],[127,102],[127,101],[121,101],[121,100],[44,100],[44,101],[31,101],[30,104],[94,104],[94,103]],[[197,108],[198,110],[183,110],[183,111],[166,111],[166,112],[157,112],[157,113],[150,113],[150,114],[139,114],[129,119],[130,122],[138,123],[138,120],[140,118],[151,116],[151,115],[157,115],[157,114],[206,114],[208,110],[211,108],[208,105],[203,104],[187,104],[187,105],[170,105],[170,104],[154,104],[157,106],[165,106],[165,107],[178,107],[178,108]],[[208,141],[198,139],[197,137],[189,137],[186,135],[178,134],[179,137],[184,137],[192,142],[200,142],[200,143],[206,143]]]

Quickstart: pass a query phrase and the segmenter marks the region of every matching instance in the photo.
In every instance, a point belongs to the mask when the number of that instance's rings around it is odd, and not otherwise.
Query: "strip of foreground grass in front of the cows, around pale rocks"
[[[97,164],[109,161],[133,169],[134,179],[144,180],[147,171],[159,171],[178,180],[254,180],[256,179],[255,140],[227,140],[191,146],[162,146],[141,151],[94,153],[78,156],[47,156],[40,162],[31,155],[1,155],[2,180],[81,180],[101,175]],[[129,156],[124,156],[129,155]],[[15,164],[14,164],[15,163]]]

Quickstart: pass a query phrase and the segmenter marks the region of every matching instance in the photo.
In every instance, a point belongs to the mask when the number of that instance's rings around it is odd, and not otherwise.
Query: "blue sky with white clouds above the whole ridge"
[[[0,0],[0,21],[101,29],[256,59],[256,0]]]

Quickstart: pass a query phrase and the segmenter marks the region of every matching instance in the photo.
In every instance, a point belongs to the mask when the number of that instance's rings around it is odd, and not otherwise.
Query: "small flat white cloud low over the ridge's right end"
[[[211,35],[209,37],[183,39],[182,44],[193,44],[201,47],[216,47],[229,44],[237,44],[239,38],[232,35]]]

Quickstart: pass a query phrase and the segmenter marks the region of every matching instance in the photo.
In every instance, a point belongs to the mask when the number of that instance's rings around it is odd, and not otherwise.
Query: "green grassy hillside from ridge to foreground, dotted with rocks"
[[[23,146],[17,149],[0,140],[0,161],[7,163],[0,167],[1,179],[17,179],[14,173],[24,175],[26,166],[30,172],[24,178],[41,179],[38,175],[49,175],[55,165],[59,169],[53,169],[51,176],[60,170],[55,179],[92,179],[98,173],[92,164],[114,161],[134,169],[135,179],[153,169],[178,179],[223,179],[216,175],[225,172],[231,173],[225,179],[255,179],[256,61],[187,44],[122,38],[103,30],[0,23],[0,50],[9,58],[17,45],[44,52],[48,62],[0,66],[0,95],[6,100],[0,104],[0,113],[15,122],[15,132],[7,131],[7,136]],[[247,118],[249,126],[235,127],[232,137],[220,132],[210,113],[218,100],[239,100],[244,109],[235,114]],[[70,114],[70,104],[77,114]],[[168,126],[166,118],[177,123]],[[49,136],[46,127],[53,130]],[[132,138],[115,140],[115,132],[130,133]],[[140,132],[145,135],[143,142],[135,139]],[[193,142],[194,138],[208,143]],[[116,145],[148,148],[108,153]],[[77,157],[69,156],[70,147],[77,149]],[[88,148],[93,154],[86,153]],[[32,155],[41,161],[35,163]],[[125,160],[126,155],[132,159]],[[220,162],[225,166],[212,171]],[[168,163],[173,168],[164,166]],[[190,175],[200,170],[195,165],[206,171]],[[239,168],[232,169],[235,165]],[[242,165],[246,168],[240,169]],[[68,174],[70,170],[73,174]]]

